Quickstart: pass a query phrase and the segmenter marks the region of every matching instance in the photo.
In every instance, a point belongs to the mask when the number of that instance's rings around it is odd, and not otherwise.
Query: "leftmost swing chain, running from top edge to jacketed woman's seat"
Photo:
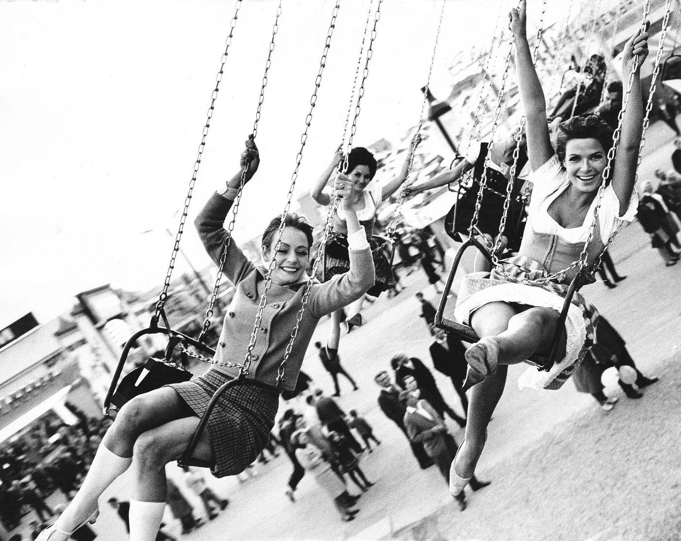
[[[202,131],[201,143],[199,144],[198,154],[196,161],[194,162],[194,168],[191,175],[191,180],[189,181],[189,191],[187,192],[187,197],[185,197],[185,207],[183,208],[182,216],[180,218],[180,226],[175,235],[175,244],[173,246],[172,255],[170,256],[170,264],[168,265],[168,272],[165,274],[165,281],[163,282],[163,290],[161,295],[159,295],[159,300],[156,303],[156,310],[151,318],[151,326],[155,327],[159,323],[159,317],[161,316],[161,310],[165,306],[165,300],[168,299],[168,289],[170,288],[170,277],[172,276],[172,271],[175,268],[175,259],[178,252],[180,251],[180,239],[182,238],[182,233],[185,231],[185,221],[187,220],[187,214],[189,212],[189,203],[191,203],[191,195],[194,191],[194,184],[196,183],[196,177],[199,172],[199,167],[201,165],[201,157],[206,146],[206,137],[208,136],[208,129],[210,129],[210,119],[212,118],[213,111],[215,110],[215,101],[217,100],[217,95],[220,87],[220,82],[222,80],[223,73],[225,71],[225,63],[227,63],[227,56],[229,54],[229,46],[232,45],[232,37],[234,36],[234,27],[236,27],[236,21],[238,19],[239,10],[241,8],[242,0],[236,0],[236,7],[234,9],[234,16],[232,16],[232,21],[229,23],[229,35],[225,42],[225,52],[221,56],[220,69],[215,77],[215,89],[210,95],[210,107],[208,108],[208,113],[206,114],[206,125]]]

